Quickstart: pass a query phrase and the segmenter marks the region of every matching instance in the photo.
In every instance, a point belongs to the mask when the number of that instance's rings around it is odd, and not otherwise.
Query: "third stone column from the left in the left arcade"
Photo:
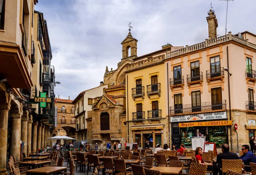
[[[27,153],[27,137],[28,137],[28,120],[29,120],[29,111],[23,111],[21,116],[21,141],[24,143],[23,152]]]

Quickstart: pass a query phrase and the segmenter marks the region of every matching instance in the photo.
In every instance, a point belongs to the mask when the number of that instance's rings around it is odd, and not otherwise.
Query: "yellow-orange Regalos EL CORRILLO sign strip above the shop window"
[[[228,126],[228,125],[232,125],[232,120],[179,123],[179,127],[207,127],[207,126]]]

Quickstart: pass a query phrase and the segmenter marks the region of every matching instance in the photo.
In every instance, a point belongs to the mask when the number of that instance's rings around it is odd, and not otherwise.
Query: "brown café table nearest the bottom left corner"
[[[67,172],[67,167],[41,167],[36,169],[29,169],[26,171],[27,175],[51,175],[59,172]]]

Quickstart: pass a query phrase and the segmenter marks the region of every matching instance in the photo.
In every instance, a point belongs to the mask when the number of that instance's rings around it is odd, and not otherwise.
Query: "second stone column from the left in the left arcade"
[[[11,149],[10,155],[15,155],[16,159],[20,159],[20,134],[21,134],[21,115],[22,115],[22,104],[20,104],[20,109],[18,105],[11,107]]]

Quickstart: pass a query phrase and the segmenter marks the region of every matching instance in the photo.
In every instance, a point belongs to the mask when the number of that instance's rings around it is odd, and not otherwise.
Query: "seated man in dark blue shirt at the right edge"
[[[256,163],[256,156],[251,151],[249,151],[250,147],[247,144],[244,144],[241,150],[244,154],[239,158],[242,159],[244,165],[250,165],[250,162]],[[250,167],[244,167],[244,169],[247,172],[251,171]]]

